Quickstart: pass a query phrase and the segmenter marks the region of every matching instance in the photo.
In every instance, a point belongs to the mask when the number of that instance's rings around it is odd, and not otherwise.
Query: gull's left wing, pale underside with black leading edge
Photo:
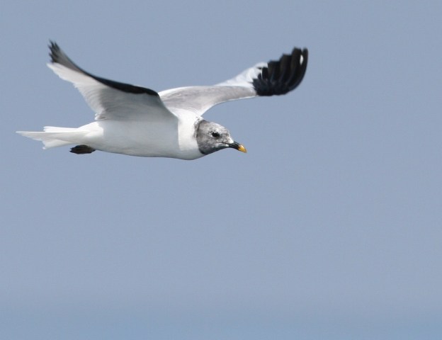
[[[176,120],[157,92],[96,77],[74,64],[55,42],[51,42],[50,57],[47,66],[79,89],[96,120]]]

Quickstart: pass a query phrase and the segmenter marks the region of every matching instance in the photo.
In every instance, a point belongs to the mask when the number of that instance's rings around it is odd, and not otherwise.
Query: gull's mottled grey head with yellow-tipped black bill
[[[227,147],[247,152],[245,147],[232,140],[229,130],[220,124],[208,122],[207,120],[200,120],[198,123],[196,142],[202,154],[211,154]]]

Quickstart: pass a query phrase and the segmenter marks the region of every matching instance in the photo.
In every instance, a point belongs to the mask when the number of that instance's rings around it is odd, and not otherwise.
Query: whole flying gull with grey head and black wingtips
[[[76,145],[74,154],[96,150],[139,157],[198,159],[221,149],[246,152],[229,130],[203,119],[219,103],[256,96],[287,94],[307,68],[307,49],[295,47],[277,61],[261,62],[237,77],[213,86],[186,86],[153,91],[96,77],[50,42],[47,66],[70,81],[95,112],[95,121],[79,128],[46,126],[42,132],[17,131],[43,142],[43,149]]]

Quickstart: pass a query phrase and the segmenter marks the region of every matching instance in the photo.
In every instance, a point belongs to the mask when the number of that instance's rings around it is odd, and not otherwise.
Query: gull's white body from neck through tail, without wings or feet
[[[189,120],[190,117],[185,117]],[[197,159],[199,151],[193,122],[183,120],[97,120],[79,128],[45,127],[45,132],[21,132],[41,140],[45,148],[87,145],[103,152],[139,157]],[[178,125],[178,126],[177,126]]]

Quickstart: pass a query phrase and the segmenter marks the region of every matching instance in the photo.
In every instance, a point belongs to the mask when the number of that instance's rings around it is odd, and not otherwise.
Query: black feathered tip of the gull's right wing
[[[290,55],[282,55],[261,69],[253,85],[258,96],[274,96],[293,91],[302,81],[307,69],[308,50],[295,47]]]

